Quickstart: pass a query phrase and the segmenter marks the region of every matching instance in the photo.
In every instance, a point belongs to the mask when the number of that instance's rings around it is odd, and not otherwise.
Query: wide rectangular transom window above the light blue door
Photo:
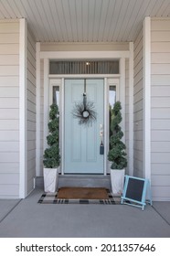
[[[119,59],[114,60],[50,60],[50,75],[119,74]]]

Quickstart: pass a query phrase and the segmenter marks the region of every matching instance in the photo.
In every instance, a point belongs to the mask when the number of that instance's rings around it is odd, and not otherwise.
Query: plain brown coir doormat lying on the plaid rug
[[[104,187],[60,187],[58,199],[109,199]]]

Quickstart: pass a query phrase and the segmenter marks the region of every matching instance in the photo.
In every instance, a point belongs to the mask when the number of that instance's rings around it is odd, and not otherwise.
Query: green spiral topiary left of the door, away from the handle
[[[44,152],[43,164],[45,168],[57,168],[60,163],[59,155],[59,116],[58,105],[52,104],[49,111],[48,148]]]

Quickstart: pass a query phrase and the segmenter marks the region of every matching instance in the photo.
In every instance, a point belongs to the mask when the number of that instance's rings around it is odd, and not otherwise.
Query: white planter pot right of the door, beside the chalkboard
[[[124,174],[125,174],[125,169],[122,169],[122,170],[111,169],[112,194],[122,195],[122,190],[124,185]]]

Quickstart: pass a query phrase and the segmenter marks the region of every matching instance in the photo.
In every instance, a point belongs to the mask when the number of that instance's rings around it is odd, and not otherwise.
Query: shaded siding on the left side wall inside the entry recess
[[[36,176],[36,42],[27,30],[27,194]]]

